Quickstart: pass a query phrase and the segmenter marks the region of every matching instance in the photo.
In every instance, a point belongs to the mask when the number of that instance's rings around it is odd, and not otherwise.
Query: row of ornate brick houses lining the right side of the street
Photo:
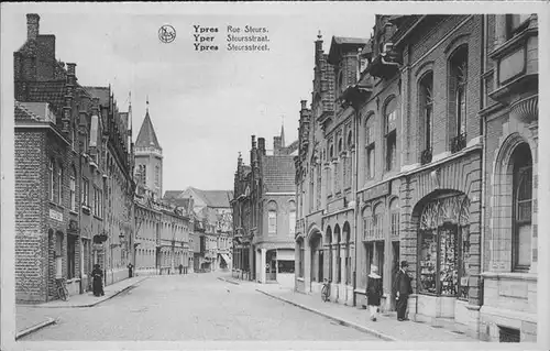
[[[296,167],[296,289],[383,310],[407,261],[409,316],[485,340],[537,323],[538,18],[376,15],[315,42]]]

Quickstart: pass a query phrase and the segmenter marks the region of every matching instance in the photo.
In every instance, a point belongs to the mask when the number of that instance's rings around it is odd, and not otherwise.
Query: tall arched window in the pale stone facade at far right
[[[532,161],[529,146],[514,152],[514,238],[513,268],[526,272],[531,265]]]

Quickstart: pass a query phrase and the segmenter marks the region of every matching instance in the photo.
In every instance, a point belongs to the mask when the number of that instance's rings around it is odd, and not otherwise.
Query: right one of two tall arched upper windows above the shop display
[[[458,48],[449,63],[449,112],[454,128],[451,152],[457,152],[466,146],[468,46]]]

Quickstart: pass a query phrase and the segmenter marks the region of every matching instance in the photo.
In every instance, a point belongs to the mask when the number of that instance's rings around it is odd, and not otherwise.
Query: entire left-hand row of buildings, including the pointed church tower
[[[61,284],[86,293],[95,264],[106,285],[230,268],[231,191],[188,188],[163,199],[148,101],[134,143],[131,97],[121,111],[110,86],[81,85],[76,64],[56,59],[55,35],[40,33],[40,15],[26,22],[13,54],[16,301],[57,299]],[[193,196],[197,205],[185,204]]]

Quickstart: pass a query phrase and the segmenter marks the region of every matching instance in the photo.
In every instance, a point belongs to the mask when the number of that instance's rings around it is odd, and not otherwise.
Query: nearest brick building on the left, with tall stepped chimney
[[[76,64],[55,58],[55,35],[40,34],[40,17],[26,20],[26,42],[13,54],[15,295],[38,303],[57,298],[59,279],[69,294],[87,287],[80,169],[98,105],[77,83]]]

